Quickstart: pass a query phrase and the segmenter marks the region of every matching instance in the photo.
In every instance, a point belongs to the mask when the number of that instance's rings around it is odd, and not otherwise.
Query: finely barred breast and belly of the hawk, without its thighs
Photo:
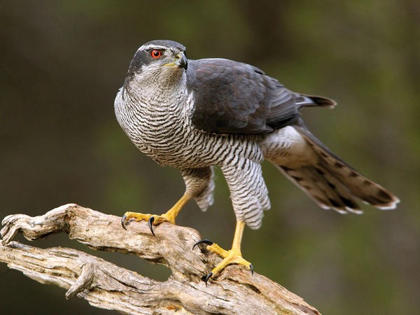
[[[172,101],[158,104],[123,95],[116,98],[121,127],[141,152],[160,165],[191,168],[262,162],[259,137],[201,132],[190,119],[193,98]]]

